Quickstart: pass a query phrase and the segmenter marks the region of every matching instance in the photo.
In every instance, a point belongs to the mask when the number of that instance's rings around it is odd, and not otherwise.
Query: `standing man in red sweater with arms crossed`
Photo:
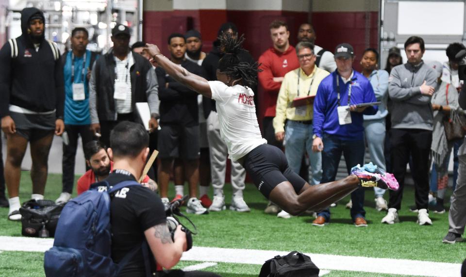
[[[275,117],[275,106],[277,105],[278,92],[282,86],[283,76],[291,70],[300,67],[296,50],[290,45],[288,25],[286,22],[274,20],[270,23],[270,37],[273,46],[262,53],[259,57],[261,72],[258,73],[259,84],[262,86],[262,103],[266,107],[262,121],[262,132],[268,144],[283,148],[282,141],[275,139],[273,118]],[[269,202],[266,213],[277,214],[280,208]]]

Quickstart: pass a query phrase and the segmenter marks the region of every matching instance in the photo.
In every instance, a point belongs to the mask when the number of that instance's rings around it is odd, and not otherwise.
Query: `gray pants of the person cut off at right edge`
[[[458,180],[456,189],[451,197],[448,215],[449,232],[462,235],[466,224],[466,147],[465,144],[458,150]]]

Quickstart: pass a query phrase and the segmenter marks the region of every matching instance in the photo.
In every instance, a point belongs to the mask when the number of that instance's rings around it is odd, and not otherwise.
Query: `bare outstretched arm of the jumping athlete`
[[[175,80],[182,83],[184,86],[197,91],[205,97],[212,98],[212,91],[210,90],[209,83],[206,79],[171,62],[166,58],[166,56],[160,53],[160,50],[156,45],[148,43],[144,50],[152,57],[151,61],[157,62],[157,65],[165,69],[166,73]]]

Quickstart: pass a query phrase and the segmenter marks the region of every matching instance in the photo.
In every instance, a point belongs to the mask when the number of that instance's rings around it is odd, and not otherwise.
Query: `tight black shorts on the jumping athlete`
[[[299,193],[306,181],[288,166],[285,154],[278,147],[262,144],[244,157],[243,167],[254,185],[268,199],[270,191],[278,184],[288,181]]]

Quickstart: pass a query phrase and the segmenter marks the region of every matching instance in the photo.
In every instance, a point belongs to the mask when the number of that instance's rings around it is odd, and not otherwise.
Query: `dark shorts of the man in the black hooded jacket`
[[[55,132],[55,113],[38,115],[10,112],[10,116],[15,121],[16,133],[28,141],[39,140]]]

